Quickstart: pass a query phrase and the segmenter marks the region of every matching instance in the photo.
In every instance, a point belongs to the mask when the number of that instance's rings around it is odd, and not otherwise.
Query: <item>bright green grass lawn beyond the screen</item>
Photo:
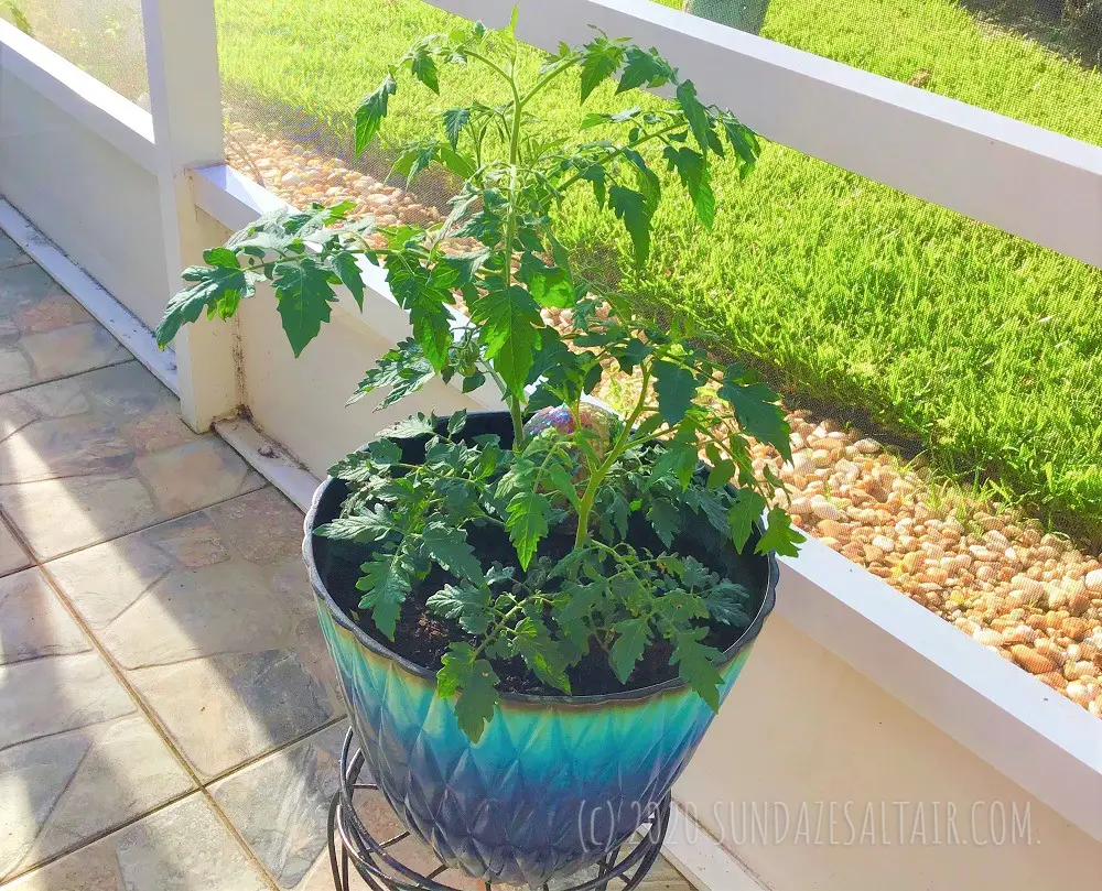
[[[230,91],[338,135],[385,65],[451,21],[418,0],[216,1]],[[929,89],[1102,141],[1102,76],[948,0],[774,0],[764,33],[889,77],[925,70]],[[434,126],[472,78],[440,99],[400,93],[389,135]],[[572,89],[544,109],[563,127],[580,119]],[[1102,273],[779,145],[745,183],[724,177],[720,204],[707,236],[667,203],[642,274],[608,217],[579,204],[564,226],[625,290],[692,308],[839,414],[920,439],[1071,531],[1102,529]]]

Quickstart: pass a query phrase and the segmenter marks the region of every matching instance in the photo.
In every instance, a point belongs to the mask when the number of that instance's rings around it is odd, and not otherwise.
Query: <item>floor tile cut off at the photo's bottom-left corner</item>
[[[267,891],[196,793],[6,885],[4,891]]]

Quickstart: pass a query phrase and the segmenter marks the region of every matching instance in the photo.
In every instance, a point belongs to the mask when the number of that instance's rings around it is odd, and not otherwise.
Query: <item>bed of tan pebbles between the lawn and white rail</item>
[[[230,128],[238,170],[296,206],[356,202],[380,225],[426,224],[435,208],[301,145]],[[548,316],[554,324],[559,319]],[[623,401],[631,380],[602,395]],[[943,490],[921,461],[876,439],[792,412],[792,461],[756,445],[789,487],[793,521],[977,643],[1102,717],[1102,559],[1020,513]]]

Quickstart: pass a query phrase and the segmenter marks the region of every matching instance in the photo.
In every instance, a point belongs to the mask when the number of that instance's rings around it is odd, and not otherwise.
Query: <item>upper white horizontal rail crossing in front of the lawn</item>
[[[509,21],[517,0],[428,0]],[[650,0],[519,0],[555,50],[603,29],[657,46],[707,102],[770,140],[1102,267],[1102,148]]]

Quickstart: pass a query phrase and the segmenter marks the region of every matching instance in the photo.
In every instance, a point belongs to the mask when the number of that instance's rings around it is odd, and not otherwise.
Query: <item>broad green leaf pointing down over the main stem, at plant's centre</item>
[[[522,392],[540,346],[539,305],[523,287],[511,285],[488,292],[471,308],[472,317],[483,326],[486,358],[510,392]]]

